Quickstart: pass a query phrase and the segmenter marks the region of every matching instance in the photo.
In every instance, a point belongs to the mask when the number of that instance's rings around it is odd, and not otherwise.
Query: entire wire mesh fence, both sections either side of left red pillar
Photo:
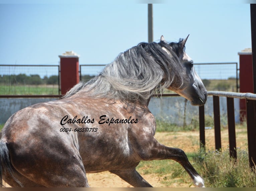
[[[80,65],[80,80],[89,81],[105,66]],[[239,92],[237,63],[203,63],[194,67],[208,91]],[[58,65],[0,65],[0,95],[59,95],[59,89]]]

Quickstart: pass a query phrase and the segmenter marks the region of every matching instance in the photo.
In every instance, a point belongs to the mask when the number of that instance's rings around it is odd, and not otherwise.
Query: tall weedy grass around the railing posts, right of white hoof
[[[256,172],[249,167],[247,150],[238,149],[237,160],[229,157],[229,150],[199,152],[194,160],[208,187],[256,187]]]

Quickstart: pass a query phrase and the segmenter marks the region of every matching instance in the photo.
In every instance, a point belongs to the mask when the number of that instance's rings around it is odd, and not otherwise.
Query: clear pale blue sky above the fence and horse
[[[241,0],[73,2],[0,0],[0,64],[58,64],[71,50],[80,64],[108,64],[147,42],[147,2],[160,2],[153,4],[154,41],[190,34],[194,63],[239,63],[238,52],[251,48],[250,5]]]

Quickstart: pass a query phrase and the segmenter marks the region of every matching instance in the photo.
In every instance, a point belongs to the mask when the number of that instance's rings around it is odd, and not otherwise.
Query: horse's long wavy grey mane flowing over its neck
[[[87,83],[78,83],[63,98],[83,94],[84,97],[142,101],[151,97],[160,83],[163,83],[161,88],[179,88],[185,75],[179,60],[184,53],[182,40],[140,43],[120,53],[99,76]]]

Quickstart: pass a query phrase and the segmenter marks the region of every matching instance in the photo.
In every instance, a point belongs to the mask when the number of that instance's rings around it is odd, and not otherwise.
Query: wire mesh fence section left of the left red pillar
[[[58,65],[0,65],[0,95],[59,95]]]

